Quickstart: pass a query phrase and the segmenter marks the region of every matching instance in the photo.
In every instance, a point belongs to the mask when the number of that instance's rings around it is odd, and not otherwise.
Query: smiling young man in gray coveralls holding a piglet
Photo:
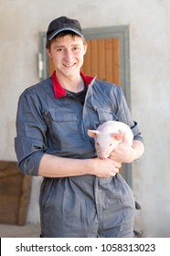
[[[133,237],[133,191],[119,168],[143,155],[143,138],[122,89],[80,72],[86,50],[77,20],[60,16],[49,24],[47,52],[55,72],[20,96],[18,166],[25,175],[44,176],[41,237]],[[131,127],[133,146],[124,138],[101,160],[87,131],[108,120]]]

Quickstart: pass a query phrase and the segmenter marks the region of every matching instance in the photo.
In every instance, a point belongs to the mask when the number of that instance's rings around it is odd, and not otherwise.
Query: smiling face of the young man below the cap
[[[47,51],[49,58],[53,60],[58,79],[72,79],[74,76],[80,75],[80,68],[86,50],[87,45],[78,36],[57,37],[52,42],[50,49],[47,49]]]

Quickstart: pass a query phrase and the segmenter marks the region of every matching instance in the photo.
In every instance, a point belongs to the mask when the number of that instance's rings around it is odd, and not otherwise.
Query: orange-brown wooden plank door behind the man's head
[[[82,72],[120,84],[120,40],[119,38],[87,40],[88,50]]]

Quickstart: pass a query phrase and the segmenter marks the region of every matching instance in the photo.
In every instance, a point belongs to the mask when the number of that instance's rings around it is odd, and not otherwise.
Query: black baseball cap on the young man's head
[[[58,33],[66,30],[72,31],[80,37],[83,37],[82,29],[78,20],[71,19],[67,16],[59,16],[49,24],[47,38],[48,40],[51,40],[56,37]]]

